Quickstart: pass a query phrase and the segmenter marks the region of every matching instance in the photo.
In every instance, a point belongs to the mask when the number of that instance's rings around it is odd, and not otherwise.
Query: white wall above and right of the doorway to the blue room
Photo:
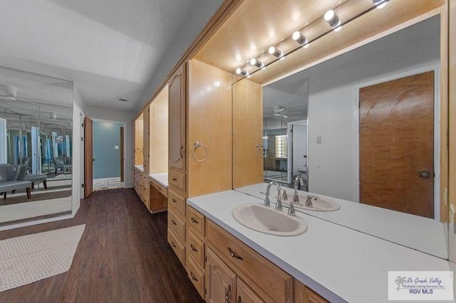
[[[105,107],[86,107],[86,116],[90,119],[102,119],[111,122],[125,123],[124,151],[125,151],[125,187],[133,187],[131,167],[133,165],[133,119],[135,112],[126,110],[113,110]]]

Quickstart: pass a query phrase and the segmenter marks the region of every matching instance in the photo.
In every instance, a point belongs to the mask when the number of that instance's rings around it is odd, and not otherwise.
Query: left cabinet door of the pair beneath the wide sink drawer
[[[236,302],[236,275],[210,248],[207,248],[206,288],[206,302]]]

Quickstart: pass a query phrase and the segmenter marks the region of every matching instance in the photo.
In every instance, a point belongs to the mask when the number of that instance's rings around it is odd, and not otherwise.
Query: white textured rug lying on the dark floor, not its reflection
[[[0,241],[0,292],[67,272],[86,225]]]

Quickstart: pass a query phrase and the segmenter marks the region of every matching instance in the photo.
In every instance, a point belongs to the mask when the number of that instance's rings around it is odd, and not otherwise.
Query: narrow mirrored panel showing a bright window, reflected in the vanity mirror
[[[308,83],[297,78],[263,88],[264,180],[291,186],[303,176],[307,188]]]

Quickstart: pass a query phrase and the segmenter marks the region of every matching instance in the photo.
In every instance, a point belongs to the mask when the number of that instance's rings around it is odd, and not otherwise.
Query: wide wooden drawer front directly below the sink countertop
[[[293,301],[293,280],[286,272],[211,220],[207,220],[206,237],[207,246],[217,251],[217,255],[264,301]]]

